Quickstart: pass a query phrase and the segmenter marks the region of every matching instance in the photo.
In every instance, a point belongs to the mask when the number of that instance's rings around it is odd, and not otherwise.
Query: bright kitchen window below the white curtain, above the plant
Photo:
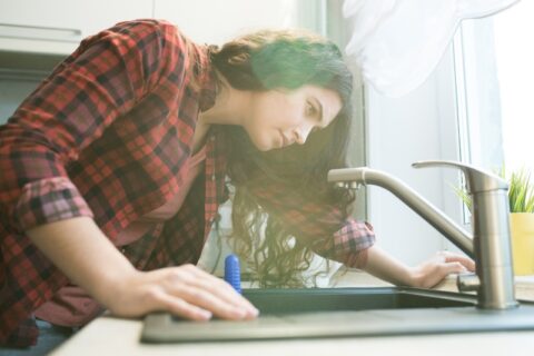
[[[454,38],[461,158],[487,170],[534,170],[534,3],[463,21]]]

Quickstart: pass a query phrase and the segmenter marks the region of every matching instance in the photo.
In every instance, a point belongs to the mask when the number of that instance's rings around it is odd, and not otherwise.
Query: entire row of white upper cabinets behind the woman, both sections
[[[322,31],[325,0],[2,0],[2,52],[67,56],[81,39],[139,18],[176,23],[197,42],[221,44],[260,28]]]

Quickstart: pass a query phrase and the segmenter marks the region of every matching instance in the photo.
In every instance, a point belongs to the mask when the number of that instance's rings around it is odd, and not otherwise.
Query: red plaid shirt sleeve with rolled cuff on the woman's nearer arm
[[[0,127],[3,222],[24,231],[92,216],[66,167],[166,75],[174,31],[141,20],[87,38]]]

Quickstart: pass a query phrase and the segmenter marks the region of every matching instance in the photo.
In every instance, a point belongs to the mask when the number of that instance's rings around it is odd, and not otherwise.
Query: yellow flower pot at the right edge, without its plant
[[[534,275],[534,212],[512,212],[510,229],[515,275]]]

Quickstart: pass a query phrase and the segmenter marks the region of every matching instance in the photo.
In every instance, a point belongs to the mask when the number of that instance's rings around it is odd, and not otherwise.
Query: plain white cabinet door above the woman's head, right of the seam
[[[288,0],[155,0],[154,17],[171,21],[199,43],[221,44],[254,29],[298,26],[299,3]]]

